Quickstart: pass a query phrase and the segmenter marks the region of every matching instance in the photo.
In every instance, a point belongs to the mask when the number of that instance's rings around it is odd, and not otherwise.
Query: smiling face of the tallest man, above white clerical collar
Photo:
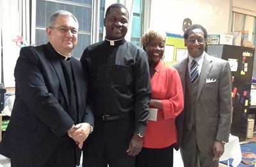
[[[108,40],[124,38],[128,30],[128,21],[129,14],[125,8],[110,8],[104,19],[106,38]]]

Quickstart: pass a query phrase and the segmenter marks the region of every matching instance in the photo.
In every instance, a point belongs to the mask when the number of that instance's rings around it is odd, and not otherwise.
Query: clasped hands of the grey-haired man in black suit
[[[83,142],[88,138],[90,134],[90,124],[89,123],[79,123],[73,125],[68,130],[68,136],[78,144],[79,148],[83,147]]]

